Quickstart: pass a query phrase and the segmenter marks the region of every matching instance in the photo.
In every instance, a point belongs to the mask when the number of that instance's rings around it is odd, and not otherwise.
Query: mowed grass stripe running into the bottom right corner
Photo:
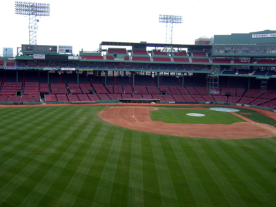
[[[227,143],[227,144],[226,144]],[[244,197],[244,201],[248,206],[259,205],[259,206],[275,206],[275,200],[273,200],[266,191],[259,186],[257,180],[251,177],[251,173],[247,166],[244,166],[244,159],[233,150],[228,144],[228,141],[217,141],[219,147],[221,147],[220,156],[227,161],[227,164],[232,168],[233,172],[239,177],[240,188],[244,188],[246,194],[240,192],[241,196]],[[244,186],[242,186],[244,184]],[[271,205],[273,204],[273,205]]]

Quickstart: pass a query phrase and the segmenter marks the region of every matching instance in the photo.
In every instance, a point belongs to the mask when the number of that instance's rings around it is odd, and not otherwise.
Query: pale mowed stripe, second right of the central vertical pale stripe
[[[201,180],[197,176],[197,169],[194,168],[193,164],[191,163],[190,155],[186,154],[187,142],[184,139],[169,139],[170,145],[175,152],[177,157],[177,161],[181,166],[181,170],[183,175],[186,176],[188,188],[191,192],[191,196],[193,196],[196,204],[195,206],[213,206],[204,186],[201,184]],[[181,141],[179,141],[181,140]]]

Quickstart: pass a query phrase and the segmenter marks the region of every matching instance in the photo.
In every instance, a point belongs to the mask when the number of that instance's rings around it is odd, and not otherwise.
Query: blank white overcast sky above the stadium
[[[173,26],[173,43],[194,44],[215,34],[248,33],[275,28],[275,0],[263,1],[68,1],[50,3],[50,17],[38,17],[37,44],[72,46],[73,53],[94,51],[101,41],[166,43],[166,23],[159,14],[182,15]],[[15,1],[0,1],[2,48],[29,43],[28,17],[15,14]]]

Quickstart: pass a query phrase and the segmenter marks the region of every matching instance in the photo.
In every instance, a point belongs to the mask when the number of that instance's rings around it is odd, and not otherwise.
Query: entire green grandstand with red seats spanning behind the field
[[[0,57],[0,101],[227,103],[276,109],[276,37],[256,34],[276,31],[215,35],[208,45],[172,44],[172,52],[163,52],[166,44],[146,42],[103,41],[96,52],[78,55],[59,54],[58,46],[22,45],[14,59]]]

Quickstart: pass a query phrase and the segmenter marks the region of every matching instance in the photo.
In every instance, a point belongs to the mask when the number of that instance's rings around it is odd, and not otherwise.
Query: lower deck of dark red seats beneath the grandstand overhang
[[[164,55],[164,54],[162,54]],[[236,70],[237,71],[237,70]],[[239,70],[250,72],[251,70]],[[185,77],[184,87],[181,87],[181,78],[162,76],[160,86],[157,87],[157,77],[135,75],[135,86],[132,86],[132,77],[108,77],[108,85],[104,85],[104,77],[97,75],[81,76],[81,82],[76,83],[74,75],[50,74],[47,82],[46,73],[40,76],[32,72],[20,72],[18,77],[14,71],[0,72],[0,101],[8,103],[66,103],[90,101],[117,101],[117,100],[155,100],[179,102],[218,102],[242,103],[255,106],[264,106],[276,109],[276,86],[268,85],[272,90],[257,89],[259,80],[248,83],[248,78],[221,77],[220,88],[209,94],[204,75]],[[19,82],[14,82],[14,80]],[[64,82],[64,83],[61,83]],[[117,85],[117,83],[119,83]],[[246,87],[250,85],[248,90]]]

